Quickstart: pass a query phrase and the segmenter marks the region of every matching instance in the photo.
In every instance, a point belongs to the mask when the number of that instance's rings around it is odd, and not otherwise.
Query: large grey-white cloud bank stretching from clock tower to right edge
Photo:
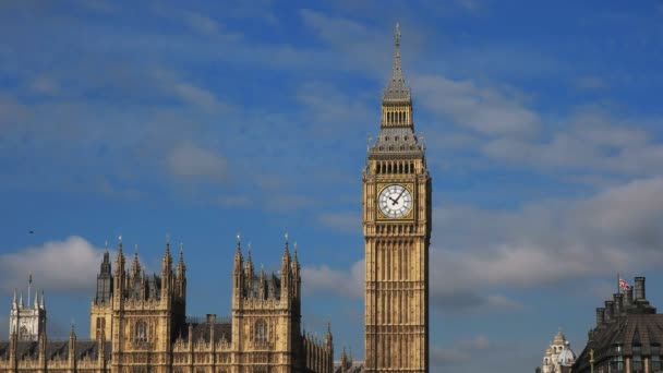
[[[661,265],[661,193],[663,179],[653,178],[513,212],[441,207],[433,218],[431,282],[458,291],[532,288]]]

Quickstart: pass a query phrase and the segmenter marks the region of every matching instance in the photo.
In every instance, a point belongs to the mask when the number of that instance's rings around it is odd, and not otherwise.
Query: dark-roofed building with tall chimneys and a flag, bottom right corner
[[[662,344],[663,314],[647,300],[644,277],[636,277],[635,298],[629,287],[596,309],[596,326],[589,332],[572,372],[663,372]]]

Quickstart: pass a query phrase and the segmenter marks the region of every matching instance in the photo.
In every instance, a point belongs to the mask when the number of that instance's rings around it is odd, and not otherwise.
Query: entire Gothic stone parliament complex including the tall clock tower
[[[429,372],[429,244],[432,182],[414,132],[412,97],[400,63],[396,25],[391,77],[379,133],[362,172],[365,244],[364,362],[345,351],[334,364],[330,327],[323,340],[301,330],[301,268],[286,238],[278,274],[255,272],[238,237],[229,320],[186,317],[186,266],[169,243],[160,274],[131,263],[120,240],[108,251],[91,304],[91,335],[47,338],[44,297],[12,302],[10,340],[0,341],[0,373],[378,373]],[[28,290],[29,291],[29,290]]]

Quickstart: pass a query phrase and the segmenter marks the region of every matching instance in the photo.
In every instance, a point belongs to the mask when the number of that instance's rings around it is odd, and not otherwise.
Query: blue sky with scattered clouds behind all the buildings
[[[306,330],[330,317],[361,359],[396,21],[434,186],[434,370],[531,372],[559,327],[580,352],[617,273],[663,304],[661,1],[3,1],[0,338],[29,272],[51,337],[87,335],[119,234],[152,269],[183,242],[189,313],[228,315],[237,232],[277,269],[288,231]]]

